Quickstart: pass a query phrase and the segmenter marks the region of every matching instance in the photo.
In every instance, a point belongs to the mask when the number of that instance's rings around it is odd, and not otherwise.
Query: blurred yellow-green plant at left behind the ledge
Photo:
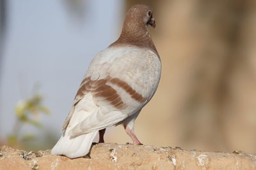
[[[23,125],[29,124],[33,127],[42,128],[39,122],[40,113],[50,115],[50,111],[42,104],[43,97],[40,94],[35,94],[29,99],[19,101],[15,106],[16,122],[13,126],[12,134],[8,136],[8,145],[20,147],[21,143],[26,143],[35,139],[33,134],[20,134],[20,129]]]

